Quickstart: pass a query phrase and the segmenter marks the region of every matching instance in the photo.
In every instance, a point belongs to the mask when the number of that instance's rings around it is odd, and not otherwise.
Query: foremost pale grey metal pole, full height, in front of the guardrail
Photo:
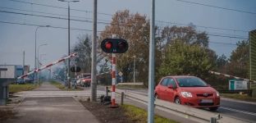
[[[150,43],[149,43],[149,104],[148,104],[148,123],[154,122],[154,16],[155,0],[151,0],[151,19],[150,19]]]

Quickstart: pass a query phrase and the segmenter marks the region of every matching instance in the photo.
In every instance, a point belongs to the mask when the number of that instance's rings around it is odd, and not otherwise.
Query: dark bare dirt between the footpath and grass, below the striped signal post
[[[126,115],[126,109],[122,107],[112,108],[107,107],[99,101],[96,103],[81,102],[84,107],[89,110],[100,122],[104,123],[135,123]]]

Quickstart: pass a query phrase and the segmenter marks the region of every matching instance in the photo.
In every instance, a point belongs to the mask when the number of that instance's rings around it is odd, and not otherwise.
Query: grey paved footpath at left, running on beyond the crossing
[[[49,82],[32,91],[60,90]],[[60,90],[61,91],[61,90]],[[52,98],[24,98],[15,107],[19,112],[18,118],[7,121],[7,123],[98,123],[82,104],[72,97]]]

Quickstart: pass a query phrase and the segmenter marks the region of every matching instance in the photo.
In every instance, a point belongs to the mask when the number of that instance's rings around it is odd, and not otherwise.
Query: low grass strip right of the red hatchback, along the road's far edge
[[[234,98],[234,99],[239,99],[243,101],[256,102],[256,98],[249,97],[247,95],[241,95],[239,93],[221,93],[221,96],[225,98]]]

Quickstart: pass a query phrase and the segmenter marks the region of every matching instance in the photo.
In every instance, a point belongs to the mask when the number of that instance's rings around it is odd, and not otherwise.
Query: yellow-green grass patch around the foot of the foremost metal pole
[[[139,107],[134,107],[131,105],[123,104],[121,106],[122,108],[126,109],[126,115],[131,118],[133,121],[138,121],[139,123],[148,122],[148,112],[144,109],[141,109]],[[155,123],[177,123],[176,121],[171,121],[167,118],[164,118],[162,116],[154,115],[154,122]]]

